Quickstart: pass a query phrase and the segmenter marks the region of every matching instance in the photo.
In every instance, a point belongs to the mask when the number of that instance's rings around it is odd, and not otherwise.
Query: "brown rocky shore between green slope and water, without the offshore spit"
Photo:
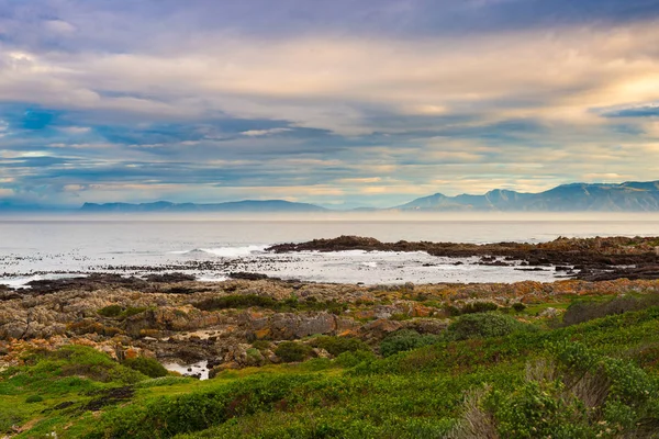
[[[26,350],[74,344],[118,360],[150,357],[185,368],[201,364],[190,367],[189,374],[212,378],[226,369],[279,363],[277,348],[286,341],[308,345],[309,358],[331,358],[314,346],[319,335],[356,338],[377,349],[400,329],[439,334],[456,311],[473,303],[512,309],[517,303],[530,306],[594,292],[659,291],[659,281],[626,279],[366,286],[238,277],[199,282],[177,273],[147,279],[93,274],[0,290],[0,368],[19,364]]]

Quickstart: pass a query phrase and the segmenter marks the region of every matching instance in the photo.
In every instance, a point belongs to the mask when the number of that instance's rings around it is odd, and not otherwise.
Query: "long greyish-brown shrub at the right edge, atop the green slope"
[[[578,301],[570,304],[563,314],[565,325],[577,325],[608,315],[623,314],[633,311],[659,306],[659,294],[643,297],[623,295],[610,301]]]

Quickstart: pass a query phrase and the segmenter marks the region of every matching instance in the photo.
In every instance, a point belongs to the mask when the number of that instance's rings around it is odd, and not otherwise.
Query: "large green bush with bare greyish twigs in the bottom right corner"
[[[656,378],[582,344],[563,342],[550,350],[551,361],[527,367],[524,385],[490,396],[488,406],[501,437],[656,437]]]

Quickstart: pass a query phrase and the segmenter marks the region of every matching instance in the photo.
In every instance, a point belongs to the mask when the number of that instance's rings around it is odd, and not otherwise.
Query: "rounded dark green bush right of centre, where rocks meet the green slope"
[[[526,327],[527,325],[507,315],[477,313],[458,317],[448,326],[446,335],[454,340],[473,337],[502,337]]]

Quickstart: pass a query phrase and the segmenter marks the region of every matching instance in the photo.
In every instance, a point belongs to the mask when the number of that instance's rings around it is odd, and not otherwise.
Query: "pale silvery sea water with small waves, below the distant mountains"
[[[144,274],[147,267],[189,271],[201,279],[222,279],[227,271],[245,270],[284,278],[333,282],[512,282],[554,280],[554,272],[522,272],[485,268],[426,254],[270,255],[268,245],[370,236],[384,241],[548,241],[559,236],[659,236],[659,215],[526,215],[268,219],[237,218],[4,218],[0,219],[0,282],[21,284],[48,273],[112,271],[130,266]],[[199,269],[198,262],[217,267]],[[224,268],[221,262],[227,262]],[[142,266],[143,268],[135,268]],[[185,268],[185,270],[181,270]]]

